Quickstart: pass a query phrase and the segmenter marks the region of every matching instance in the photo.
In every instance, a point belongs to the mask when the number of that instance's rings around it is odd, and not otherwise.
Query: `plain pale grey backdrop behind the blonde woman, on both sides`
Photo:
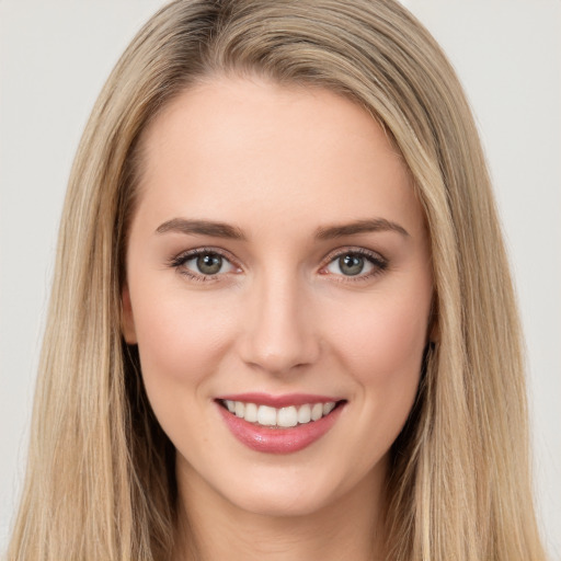
[[[526,329],[540,524],[561,560],[561,2],[404,3],[450,57],[486,149]],[[72,157],[111,68],[162,4],[0,0],[0,551]]]

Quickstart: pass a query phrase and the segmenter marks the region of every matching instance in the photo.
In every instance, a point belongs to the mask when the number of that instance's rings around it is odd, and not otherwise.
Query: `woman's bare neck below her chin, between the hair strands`
[[[179,477],[174,561],[383,559],[383,482],[378,479],[368,474],[313,513],[268,516],[238,508],[199,478]]]

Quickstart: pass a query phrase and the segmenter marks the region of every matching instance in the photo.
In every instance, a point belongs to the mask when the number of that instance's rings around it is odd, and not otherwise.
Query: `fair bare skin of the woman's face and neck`
[[[402,159],[346,99],[232,77],[172,101],[142,149],[124,334],[178,450],[175,558],[378,558],[388,450],[415,398],[433,291]],[[178,218],[243,239],[178,231]],[[318,238],[373,219],[404,232]],[[201,248],[227,257],[218,274],[184,255]],[[377,263],[345,274],[339,256],[353,251]],[[312,445],[264,454],[232,436],[215,401],[249,391],[346,402]]]

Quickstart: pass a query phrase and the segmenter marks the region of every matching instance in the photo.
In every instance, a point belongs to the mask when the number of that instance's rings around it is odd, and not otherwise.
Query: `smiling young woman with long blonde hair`
[[[10,558],[543,558],[484,159],[399,4],[160,11],[57,272]]]

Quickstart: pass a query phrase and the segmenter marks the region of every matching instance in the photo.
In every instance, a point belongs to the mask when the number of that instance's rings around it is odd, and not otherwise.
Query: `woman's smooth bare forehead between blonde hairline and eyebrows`
[[[140,206],[162,217],[423,221],[408,169],[378,123],[323,89],[214,78],[151,123],[142,160]]]

